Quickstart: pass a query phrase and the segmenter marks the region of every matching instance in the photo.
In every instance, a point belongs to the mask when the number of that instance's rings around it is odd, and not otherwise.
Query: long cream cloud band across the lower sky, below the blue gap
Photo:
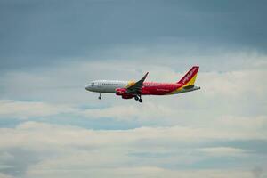
[[[266,118],[265,118],[266,122]],[[217,125],[220,126],[220,125]],[[33,148],[43,150],[49,149],[44,145],[61,146],[107,146],[107,145],[127,145],[129,142],[139,142],[151,140],[158,142],[158,145],[171,141],[195,142],[196,140],[212,139],[263,139],[264,133],[253,134],[259,127],[251,129],[250,133],[236,129],[235,132],[211,127],[141,127],[130,130],[94,131],[68,125],[50,125],[39,122],[26,122],[16,128],[1,129],[0,148],[20,146],[21,148]],[[248,137],[248,135],[251,135]],[[9,138],[12,137],[12,140]],[[27,138],[27,139],[26,139]],[[25,140],[26,139],[26,140]],[[39,141],[43,141],[40,143]],[[174,143],[175,144],[175,143]],[[133,145],[134,146],[134,145]],[[143,146],[148,146],[143,142]],[[153,147],[153,145],[151,145]]]

